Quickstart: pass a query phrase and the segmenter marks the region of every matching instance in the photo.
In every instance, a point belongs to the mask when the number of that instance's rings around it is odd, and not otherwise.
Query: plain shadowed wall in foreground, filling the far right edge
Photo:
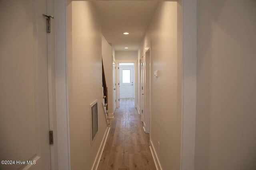
[[[197,2],[196,170],[256,169],[255,8]]]

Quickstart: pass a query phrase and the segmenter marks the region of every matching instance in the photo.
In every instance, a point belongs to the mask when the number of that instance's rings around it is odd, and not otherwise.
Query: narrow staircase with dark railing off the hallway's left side
[[[102,60],[102,104],[104,107],[107,123],[109,125],[109,116],[108,116],[108,87],[106,85],[106,78],[104,73],[104,66]]]

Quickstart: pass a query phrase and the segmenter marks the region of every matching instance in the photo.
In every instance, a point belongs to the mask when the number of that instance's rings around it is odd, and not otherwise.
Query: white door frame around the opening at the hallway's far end
[[[118,108],[120,98],[119,98],[119,63],[134,63],[134,107],[137,107],[137,63],[138,60],[116,60],[116,107]]]

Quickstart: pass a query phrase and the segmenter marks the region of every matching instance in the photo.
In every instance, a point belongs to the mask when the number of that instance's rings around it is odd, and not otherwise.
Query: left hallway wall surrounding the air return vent
[[[73,1],[68,31],[68,108],[71,169],[92,168],[107,128],[102,101],[102,32],[92,2]],[[86,31],[85,31],[86,30]],[[69,33],[72,33],[70,39]],[[70,42],[71,41],[71,42]],[[70,46],[68,47],[69,50]],[[90,144],[90,104],[98,100],[98,135]]]

